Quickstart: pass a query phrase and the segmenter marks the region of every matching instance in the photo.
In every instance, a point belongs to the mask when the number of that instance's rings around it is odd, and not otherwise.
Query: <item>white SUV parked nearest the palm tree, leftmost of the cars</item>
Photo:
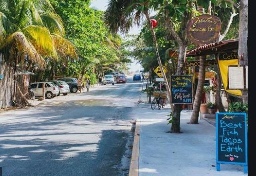
[[[33,90],[36,97],[42,96],[42,86],[44,84],[45,96],[51,99],[59,94],[59,87],[54,86],[51,82],[35,82],[31,84],[31,89]]]

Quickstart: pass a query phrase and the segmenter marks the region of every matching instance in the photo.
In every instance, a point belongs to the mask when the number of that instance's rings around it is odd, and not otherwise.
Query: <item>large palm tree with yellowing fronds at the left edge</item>
[[[35,63],[43,69],[46,65],[43,57],[56,60],[77,57],[76,48],[63,35],[64,25],[49,0],[0,0],[0,52],[8,68],[13,70],[6,80],[11,82],[12,100],[18,105],[25,102],[20,100],[24,96],[17,84],[17,65],[28,67]],[[4,87],[0,84],[4,90],[1,92],[11,94]]]

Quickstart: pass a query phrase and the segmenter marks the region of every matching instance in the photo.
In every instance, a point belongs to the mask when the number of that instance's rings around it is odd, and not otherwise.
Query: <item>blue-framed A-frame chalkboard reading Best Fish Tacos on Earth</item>
[[[216,113],[216,169],[220,163],[244,165],[247,173],[246,113]]]

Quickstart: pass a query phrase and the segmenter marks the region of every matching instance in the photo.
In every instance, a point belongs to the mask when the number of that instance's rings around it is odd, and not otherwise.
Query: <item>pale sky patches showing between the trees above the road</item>
[[[107,5],[108,5],[108,0],[92,0],[91,1],[91,6],[94,9],[97,10],[101,10],[101,11],[105,11],[107,10]],[[137,27],[136,25],[133,26],[132,29],[130,29],[129,34],[139,34],[140,33],[141,28]],[[130,67],[130,71],[137,71],[137,70],[142,70],[142,67],[140,64],[137,64],[137,61],[132,59],[133,63],[131,63]]]

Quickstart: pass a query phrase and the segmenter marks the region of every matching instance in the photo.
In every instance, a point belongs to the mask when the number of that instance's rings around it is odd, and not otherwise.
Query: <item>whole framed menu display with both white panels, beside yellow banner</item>
[[[248,66],[229,65],[227,89],[248,89]]]

